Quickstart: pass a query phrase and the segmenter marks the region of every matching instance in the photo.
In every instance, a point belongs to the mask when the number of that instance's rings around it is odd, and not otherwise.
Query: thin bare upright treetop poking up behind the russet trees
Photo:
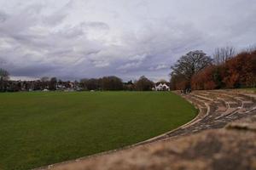
[[[213,54],[214,63],[216,65],[221,65],[235,55],[236,50],[233,47],[216,48]]]

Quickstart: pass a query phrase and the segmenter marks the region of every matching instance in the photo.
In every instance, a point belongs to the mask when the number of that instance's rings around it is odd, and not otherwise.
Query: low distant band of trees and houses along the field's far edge
[[[137,81],[123,82],[121,78],[110,76],[101,78],[84,78],[78,81],[61,81],[56,77],[42,77],[35,81],[12,81],[9,72],[0,69],[0,92],[42,91],[42,90],[102,90],[102,91],[149,91],[154,88],[154,82],[147,77],[140,77]]]

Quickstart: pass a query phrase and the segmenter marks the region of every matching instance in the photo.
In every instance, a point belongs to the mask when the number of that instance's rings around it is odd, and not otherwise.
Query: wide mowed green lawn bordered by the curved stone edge
[[[0,94],[0,169],[30,169],[150,139],[189,122],[169,92]]]

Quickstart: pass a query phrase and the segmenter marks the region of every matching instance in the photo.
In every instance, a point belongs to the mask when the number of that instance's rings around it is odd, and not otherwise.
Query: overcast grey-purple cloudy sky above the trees
[[[254,0],[0,0],[0,67],[13,78],[157,81],[189,50],[255,42]]]

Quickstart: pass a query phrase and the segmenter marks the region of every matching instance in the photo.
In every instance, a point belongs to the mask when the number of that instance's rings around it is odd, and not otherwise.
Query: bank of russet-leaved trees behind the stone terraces
[[[211,65],[192,77],[192,89],[256,87],[256,50],[242,52],[222,65]]]

